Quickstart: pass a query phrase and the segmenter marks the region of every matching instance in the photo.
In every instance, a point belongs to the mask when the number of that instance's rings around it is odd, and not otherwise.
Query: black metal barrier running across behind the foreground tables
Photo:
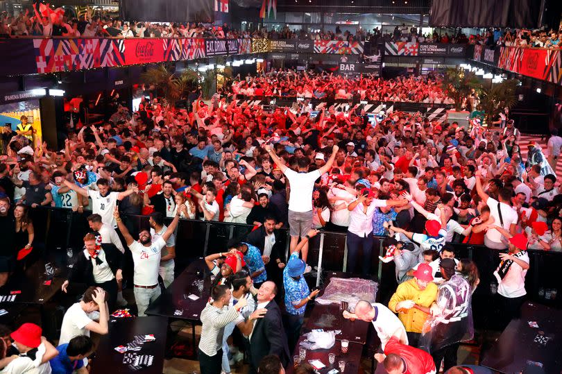
[[[74,253],[83,248],[83,235],[87,232],[86,217],[90,211],[82,214],[71,210],[40,207],[31,211],[35,226],[35,241],[45,248],[72,248]],[[143,228],[148,228],[148,216],[122,216],[133,237]],[[170,221],[170,220],[169,220]],[[168,222],[169,222],[168,221]],[[176,274],[180,273],[195,258],[210,253],[223,252],[232,238],[244,239],[253,226],[239,223],[198,221],[181,219],[176,239]],[[382,240],[373,237],[373,255],[371,257],[371,275],[379,282],[377,299],[386,303],[396,289],[395,267],[393,262],[383,264],[378,259],[383,255]],[[278,235],[280,248],[285,255],[289,252],[289,232],[280,230]],[[500,251],[484,246],[466,246],[452,244],[457,258],[472,259],[480,273],[480,284],[473,297],[475,323],[479,326],[493,325],[489,318],[495,303],[497,282],[493,271],[500,263]],[[323,271],[346,272],[347,262],[346,233],[321,231],[309,243],[307,262],[318,266],[316,285],[321,283]],[[530,269],[525,278],[527,297],[536,303],[553,307],[562,307],[562,253],[544,250],[529,250]],[[361,254],[358,261],[362,261]]]

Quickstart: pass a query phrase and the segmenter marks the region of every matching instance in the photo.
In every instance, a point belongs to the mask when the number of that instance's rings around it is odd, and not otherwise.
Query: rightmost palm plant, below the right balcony
[[[503,108],[513,108],[517,103],[516,90],[519,80],[509,79],[502,83],[495,83],[491,87],[482,87],[480,92],[480,106],[488,126]]]

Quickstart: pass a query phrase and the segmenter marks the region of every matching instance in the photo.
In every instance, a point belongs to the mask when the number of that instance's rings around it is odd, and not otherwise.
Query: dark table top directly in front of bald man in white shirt
[[[308,332],[315,329],[341,330],[341,334],[336,335],[336,339],[347,339],[364,344],[367,341],[369,323],[343,318],[340,306],[337,304],[315,304],[305,324],[305,330]]]

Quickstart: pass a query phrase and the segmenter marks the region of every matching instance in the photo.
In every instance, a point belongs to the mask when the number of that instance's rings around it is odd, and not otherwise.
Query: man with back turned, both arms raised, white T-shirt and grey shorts
[[[327,162],[314,171],[308,172],[308,158],[299,158],[297,160],[298,172],[291,170],[282,160],[275,154],[271,145],[266,144],[265,149],[273,159],[273,162],[281,169],[282,173],[289,180],[291,194],[289,194],[289,230],[291,234],[291,252],[295,250],[298,238],[303,239],[307,232],[312,228],[312,190],[314,182],[327,173],[332,168],[332,164],[336,159],[338,146],[332,147],[332,155]],[[308,244],[303,246],[303,261],[307,262]],[[310,271],[310,266],[306,266],[306,270]]]

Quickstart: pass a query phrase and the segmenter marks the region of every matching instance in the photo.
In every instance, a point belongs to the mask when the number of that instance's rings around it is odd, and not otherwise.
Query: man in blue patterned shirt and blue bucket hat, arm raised
[[[303,246],[308,244],[308,240],[318,234],[318,230],[309,230],[307,235],[300,240],[293,253],[289,257],[287,266],[283,270],[283,286],[285,289],[285,311],[284,325],[287,331],[287,339],[289,340],[289,350],[294,350],[298,337],[300,337],[300,328],[305,321],[305,310],[307,303],[318,295],[320,290],[310,291],[304,273],[307,264],[300,258],[298,253]]]

